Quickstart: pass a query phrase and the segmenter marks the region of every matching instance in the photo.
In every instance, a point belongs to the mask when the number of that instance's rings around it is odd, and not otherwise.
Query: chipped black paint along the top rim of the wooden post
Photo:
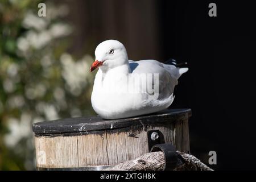
[[[55,121],[34,123],[32,130],[36,137],[73,136],[86,134],[119,133],[130,131],[130,134],[138,130],[148,130],[148,126],[163,126],[170,122],[191,116],[191,109],[163,110],[151,115],[140,117],[106,120],[100,117],[66,118]],[[132,137],[132,136],[130,136]],[[134,136],[135,137],[135,136]]]

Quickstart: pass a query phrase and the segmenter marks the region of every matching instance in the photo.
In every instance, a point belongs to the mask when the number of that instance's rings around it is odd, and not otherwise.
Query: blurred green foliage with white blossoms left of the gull
[[[0,169],[35,169],[34,122],[93,113],[92,57],[67,53],[72,27],[65,5],[0,2]]]

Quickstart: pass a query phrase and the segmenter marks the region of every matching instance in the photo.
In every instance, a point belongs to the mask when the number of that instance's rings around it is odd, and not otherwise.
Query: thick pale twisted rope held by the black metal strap
[[[177,164],[175,171],[213,171],[213,169],[200,162],[195,156],[177,151],[183,162]],[[146,153],[134,160],[128,160],[116,166],[106,168],[106,171],[161,171],[164,169],[163,152]]]

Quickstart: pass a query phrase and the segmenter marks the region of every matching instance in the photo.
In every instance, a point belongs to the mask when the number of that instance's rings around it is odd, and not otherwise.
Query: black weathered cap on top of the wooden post
[[[99,116],[57,119],[55,121],[34,123],[32,129],[36,135],[84,133],[89,131],[122,129],[150,123],[173,122],[176,119],[186,116],[191,116],[191,109],[167,109],[158,113],[113,120],[102,119]]]

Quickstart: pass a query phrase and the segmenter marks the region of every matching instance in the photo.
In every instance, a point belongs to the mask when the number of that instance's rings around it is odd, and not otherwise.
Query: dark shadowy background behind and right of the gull
[[[256,169],[253,1],[67,2],[77,55],[117,39],[132,60],[187,61],[171,108],[192,109],[191,153],[208,164],[216,151],[214,169]]]

